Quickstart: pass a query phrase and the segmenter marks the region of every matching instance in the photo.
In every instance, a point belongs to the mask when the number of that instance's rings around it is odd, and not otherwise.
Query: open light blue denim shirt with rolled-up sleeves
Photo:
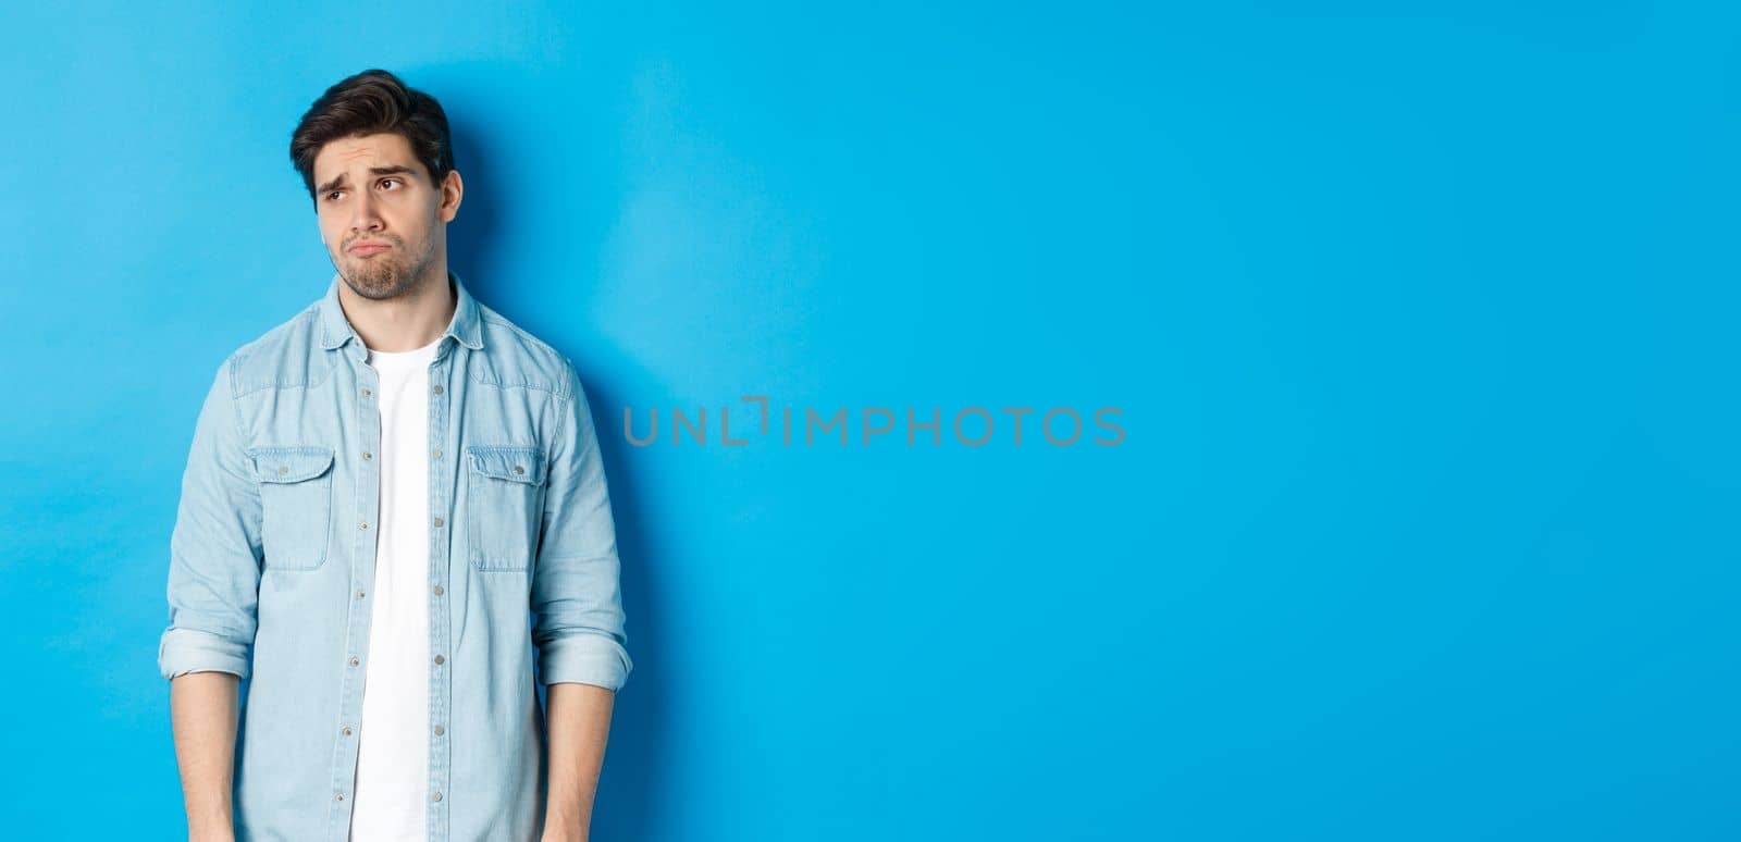
[[[620,689],[616,532],[575,365],[477,303],[430,364],[428,839],[536,840],[536,682]],[[245,684],[239,840],[348,835],[381,511],[367,348],[326,297],[232,353],[171,536],[165,678]]]

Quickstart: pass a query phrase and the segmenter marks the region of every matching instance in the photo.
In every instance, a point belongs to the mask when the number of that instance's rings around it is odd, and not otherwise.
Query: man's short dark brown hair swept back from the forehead
[[[339,137],[393,132],[411,143],[411,151],[430,172],[437,188],[453,170],[447,113],[435,97],[406,87],[385,70],[366,70],[329,87],[303,113],[291,134],[291,162],[303,176],[308,198],[315,197],[315,155]]]

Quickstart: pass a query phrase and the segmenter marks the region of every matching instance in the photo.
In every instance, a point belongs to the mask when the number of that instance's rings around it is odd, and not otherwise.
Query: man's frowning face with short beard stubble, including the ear
[[[414,292],[447,254],[460,210],[460,174],[442,184],[399,134],[339,137],[315,155],[315,216],[333,266],[353,292],[390,299]]]

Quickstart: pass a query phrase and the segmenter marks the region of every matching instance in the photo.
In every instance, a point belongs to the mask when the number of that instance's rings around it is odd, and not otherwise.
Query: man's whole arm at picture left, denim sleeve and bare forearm
[[[218,369],[193,428],[169,538],[169,628],[158,673],[171,682],[171,727],[190,839],[230,839],[237,705],[249,675],[259,597],[259,489]]]

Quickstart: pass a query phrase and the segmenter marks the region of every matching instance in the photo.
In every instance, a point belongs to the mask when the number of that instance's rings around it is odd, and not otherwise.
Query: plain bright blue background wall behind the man
[[[193,419],[324,291],[289,132],[383,66],[604,433],[594,839],[1738,839],[1736,24],[9,5],[5,835],[185,833]],[[622,435],[740,395],[1126,435]]]

